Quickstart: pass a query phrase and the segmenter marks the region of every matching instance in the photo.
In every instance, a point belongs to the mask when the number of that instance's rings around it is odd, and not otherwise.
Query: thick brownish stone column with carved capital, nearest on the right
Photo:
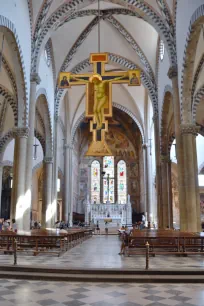
[[[198,198],[198,168],[196,155],[196,135],[199,128],[192,124],[182,124],[184,147],[184,182],[186,192],[185,227],[189,232],[201,230],[200,201]]]

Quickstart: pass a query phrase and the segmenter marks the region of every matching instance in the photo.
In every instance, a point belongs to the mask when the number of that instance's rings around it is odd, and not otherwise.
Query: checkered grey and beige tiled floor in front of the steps
[[[1,306],[203,306],[203,285],[0,280]]]

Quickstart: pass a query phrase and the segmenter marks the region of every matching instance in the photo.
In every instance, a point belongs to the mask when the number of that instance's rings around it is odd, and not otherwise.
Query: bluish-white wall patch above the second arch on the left
[[[39,76],[40,76],[41,82],[37,86],[37,91],[40,88],[44,88],[46,90],[49,110],[51,112],[51,121],[52,121],[52,126],[53,126],[55,85],[53,84],[52,64],[50,64],[50,66],[48,67],[46,60],[45,60],[44,52],[41,54],[41,57],[40,57]]]

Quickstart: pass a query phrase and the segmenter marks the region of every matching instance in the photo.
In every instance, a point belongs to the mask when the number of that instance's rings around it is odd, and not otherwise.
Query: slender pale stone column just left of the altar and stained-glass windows
[[[64,175],[64,185],[65,185],[65,207],[64,215],[65,221],[69,222],[72,226],[72,151],[73,147],[71,144],[65,145],[65,175]]]

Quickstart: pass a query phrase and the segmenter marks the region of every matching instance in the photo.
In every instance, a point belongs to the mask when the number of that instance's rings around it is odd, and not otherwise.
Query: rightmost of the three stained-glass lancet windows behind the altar
[[[124,160],[120,160],[117,165],[118,179],[118,204],[127,203],[127,169]]]

